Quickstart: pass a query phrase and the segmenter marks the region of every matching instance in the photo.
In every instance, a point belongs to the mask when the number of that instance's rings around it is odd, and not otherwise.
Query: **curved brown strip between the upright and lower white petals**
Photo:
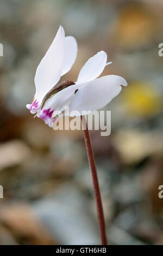
[[[45,105],[46,101],[53,95],[55,95],[56,93],[62,91],[63,89],[67,88],[68,86],[71,85],[75,85],[75,83],[73,81],[63,81],[58,85],[55,85],[47,94],[46,96],[43,98],[42,100],[42,104],[41,104],[41,109],[43,108],[43,106]]]

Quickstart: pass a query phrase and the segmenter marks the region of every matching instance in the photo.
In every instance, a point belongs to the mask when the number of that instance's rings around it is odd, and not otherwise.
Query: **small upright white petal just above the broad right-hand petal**
[[[107,61],[106,52],[100,51],[91,57],[80,70],[77,83],[88,82],[98,78],[103,72]]]

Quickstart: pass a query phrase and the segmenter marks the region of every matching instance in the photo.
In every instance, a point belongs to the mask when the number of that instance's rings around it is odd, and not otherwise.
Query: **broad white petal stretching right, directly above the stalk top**
[[[121,85],[127,86],[127,82],[118,75],[106,75],[87,82],[85,86],[79,88],[72,99],[69,105],[70,116],[71,111],[75,110],[82,115],[82,111],[94,111],[103,108],[121,92]]]

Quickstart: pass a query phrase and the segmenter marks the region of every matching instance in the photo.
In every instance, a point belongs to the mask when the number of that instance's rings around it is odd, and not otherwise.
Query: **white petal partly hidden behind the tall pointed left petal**
[[[76,60],[77,51],[78,46],[76,39],[74,37],[66,37],[64,46],[64,61],[61,75],[66,74],[71,69],[73,63]]]

